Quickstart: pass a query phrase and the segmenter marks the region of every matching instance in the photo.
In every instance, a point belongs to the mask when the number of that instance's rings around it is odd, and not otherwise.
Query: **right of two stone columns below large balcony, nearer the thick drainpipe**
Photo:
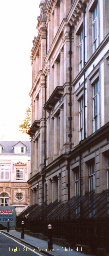
[[[60,153],[62,153],[63,144],[64,144],[64,111],[63,107],[60,107]]]

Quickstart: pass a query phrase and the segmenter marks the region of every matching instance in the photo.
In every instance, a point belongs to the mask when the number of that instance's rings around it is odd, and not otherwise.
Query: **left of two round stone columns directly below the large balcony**
[[[58,116],[54,115],[54,157],[58,155]]]

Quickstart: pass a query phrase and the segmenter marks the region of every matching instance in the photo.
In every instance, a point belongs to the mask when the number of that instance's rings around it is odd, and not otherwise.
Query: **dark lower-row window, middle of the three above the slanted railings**
[[[89,164],[89,191],[95,190],[95,163]]]

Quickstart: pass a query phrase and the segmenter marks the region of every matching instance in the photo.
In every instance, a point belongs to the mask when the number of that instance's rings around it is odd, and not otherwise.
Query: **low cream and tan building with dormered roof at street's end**
[[[29,206],[30,141],[0,141],[0,206]]]

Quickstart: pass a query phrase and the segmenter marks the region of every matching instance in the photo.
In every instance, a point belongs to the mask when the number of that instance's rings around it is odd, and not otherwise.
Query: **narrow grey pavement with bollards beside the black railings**
[[[31,249],[35,248],[36,252],[40,253],[43,252],[46,255],[49,256],[88,256],[87,254],[83,253],[83,247],[62,247],[60,245],[53,244],[52,251],[48,251],[48,242],[45,240],[41,240],[39,238],[30,236],[25,234],[24,239],[21,238],[21,233],[16,230],[10,230],[10,232],[7,233],[7,231],[3,230],[3,233],[10,235],[14,238],[17,238],[21,242],[26,243],[27,245],[30,245]],[[78,248],[78,251],[76,249]],[[82,249],[82,253],[81,253]]]

